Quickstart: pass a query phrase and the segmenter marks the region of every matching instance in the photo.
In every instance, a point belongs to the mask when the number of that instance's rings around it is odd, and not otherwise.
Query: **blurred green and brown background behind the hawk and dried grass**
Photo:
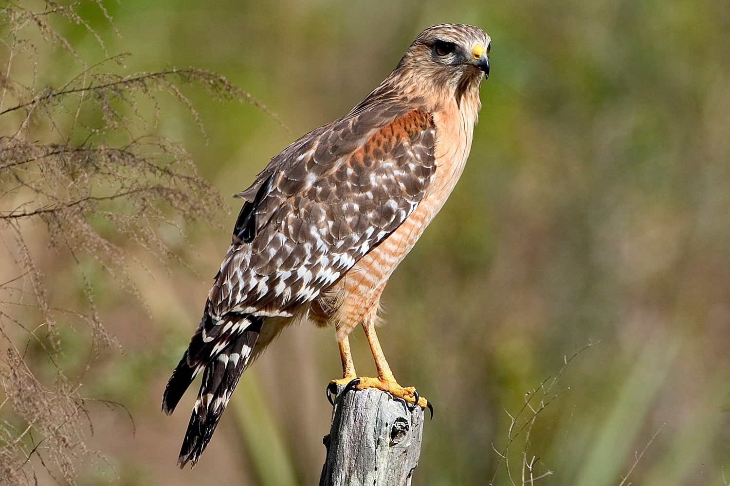
[[[423,28],[483,28],[491,75],[464,176],[383,297],[385,354],[436,411],[413,484],[485,485],[494,474],[494,484],[510,484],[496,451],[528,392],[534,407],[543,394],[558,397],[534,417],[527,446],[523,435],[510,444],[518,484],[526,450],[534,477],[552,473],[539,484],[619,485],[655,434],[629,482],[730,482],[728,1],[104,7],[118,35],[98,5],[77,12],[110,54],[131,52],[117,72],[217,71],[291,130],[254,106],[183,87],[206,138],[185,106],[162,99],[150,130],[180,141],[226,197],[294,139],[346,114]],[[106,57],[83,26],[55,28],[88,63]],[[39,85],[78,71],[61,50],[42,52]],[[227,228],[239,201],[222,216]],[[228,230],[207,224],[188,235],[197,251],[179,251],[191,268],[168,272],[139,254],[152,269],[133,269],[147,307],[99,270],[101,317],[124,353],[91,352],[84,329],[61,335],[82,394],[117,401],[134,419],[89,405],[89,446],[106,462],[82,467],[79,484],[316,484],[331,414],[325,388],[341,368],[333,329],[313,326],[274,342],[245,373],[200,463],[177,469],[194,392],[169,418],[161,395],[230,243]],[[69,292],[64,265],[49,257],[42,270],[51,291]],[[351,342],[358,372],[372,374],[360,329]]]

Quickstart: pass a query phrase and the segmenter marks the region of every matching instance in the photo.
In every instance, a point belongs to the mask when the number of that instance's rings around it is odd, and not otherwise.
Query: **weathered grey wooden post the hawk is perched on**
[[[337,387],[320,486],[410,485],[423,409],[380,390]]]

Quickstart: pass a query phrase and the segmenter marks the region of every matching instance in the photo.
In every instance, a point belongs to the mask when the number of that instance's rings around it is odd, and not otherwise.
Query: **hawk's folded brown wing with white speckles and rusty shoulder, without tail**
[[[274,157],[241,193],[247,203],[209,295],[214,321],[291,315],[337,281],[423,198],[434,130],[423,111],[353,110]]]

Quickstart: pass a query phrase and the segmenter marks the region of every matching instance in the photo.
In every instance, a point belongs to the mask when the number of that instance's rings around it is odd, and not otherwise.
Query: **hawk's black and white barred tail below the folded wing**
[[[206,313],[172,373],[162,399],[162,410],[167,415],[172,414],[185,390],[203,371],[198,399],[177,459],[181,469],[188,461],[195,466],[210,441],[220,415],[249,363],[263,320],[252,315],[228,314],[214,323]]]

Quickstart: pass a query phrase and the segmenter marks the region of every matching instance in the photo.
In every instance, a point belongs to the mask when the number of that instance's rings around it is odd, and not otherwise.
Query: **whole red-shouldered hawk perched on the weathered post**
[[[288,146],[239,194],[233,243],[162,402],[171,414],[203,372],[181,468],[200,458],[247,364],[298,321],[337,329],[334,383],[356,379],[347,336],[362,324],[378,376],[357,388],[429,405],[396,383],[374,324],[385,283],[464,169],[489,47],[478,27],[427,28],[353,111]]]

